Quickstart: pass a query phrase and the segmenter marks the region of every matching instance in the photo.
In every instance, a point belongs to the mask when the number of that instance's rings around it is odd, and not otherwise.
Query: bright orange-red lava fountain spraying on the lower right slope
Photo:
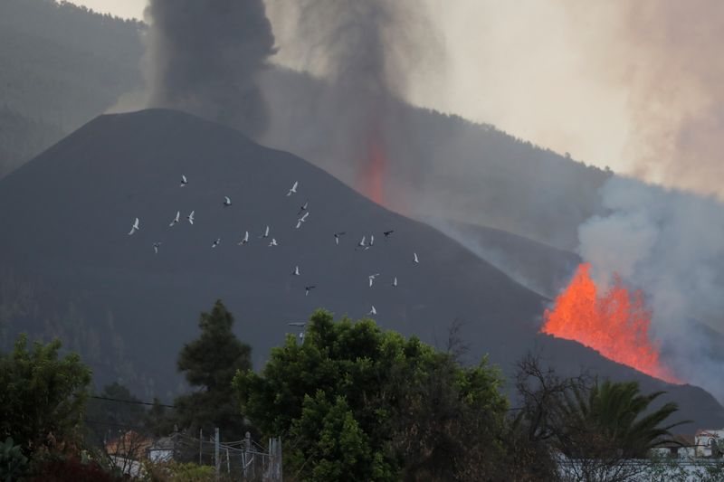
[[[643,306],[640,291],[630,294],[618,277],[603,295],[581,264],[568,288],[546,310],[540,331],[575,340],[606,358],[627,364],[669,383],[681,383],[659,359],[659,349],[649,338],[651,312]]]

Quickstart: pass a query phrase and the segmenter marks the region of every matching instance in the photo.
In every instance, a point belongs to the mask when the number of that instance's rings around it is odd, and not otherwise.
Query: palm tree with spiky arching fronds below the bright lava
[[[671,441],[672,430],[689,421],[661,426],[679,407],[664,403],[649,410],[665,392],[641,393],[637,382],[595,383],[575,390],[563,404],[565,428],[559,437],[568,457],[595,458],[604,453],[621,458],[644,458],[650,449]]]

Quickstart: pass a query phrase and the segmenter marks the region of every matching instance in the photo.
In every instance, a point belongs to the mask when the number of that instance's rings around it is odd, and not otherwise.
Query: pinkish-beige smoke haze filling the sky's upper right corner
[[[724,195],[724,4],[716,0],[568,3],[598,78],[628,99],[633,175]],[[589,5],[590,6],[590,5]]]

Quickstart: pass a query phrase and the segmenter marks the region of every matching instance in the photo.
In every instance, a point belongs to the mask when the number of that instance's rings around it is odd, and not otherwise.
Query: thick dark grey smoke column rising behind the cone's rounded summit
[[[148,107],[181,109],[255,137],[268,124],[257,84],[274,52],[262,0],[149,0]]]

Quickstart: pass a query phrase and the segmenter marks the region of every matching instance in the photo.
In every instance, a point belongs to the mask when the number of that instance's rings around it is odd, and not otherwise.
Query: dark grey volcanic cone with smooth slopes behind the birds
[[[295,182],[298,193],[287,196]],[[310,214],[297,229],[304,203]],[[192,211],[193,225],[184,221]],[[169,227],[176,212],[182,222]],[[137,217],[140,230],[129,236]],[[669,391],[681,418],[724,425],[719,403],[699,388],[539,334],[550,300],[443,232],[386,210],[298,156],[185,113],[94,119],[0,181],[0,225],[3,348],[19,332],[60,336],[97,383],[118,380],[145,397],[184,390],[176,354],[217,298],[252,345],[256,368],[283,342],[287,324],[315,308],[358,318],[374,305],[380,326],[441,348],[448,327],[462,321],[470,361],[489,354],[504,373],[534,350],[560,373],[584,368],[638,380],[643,390]],[[278,246],[259,238],[267,225]],[[246,231],[249,243],[237,245]],[[346,233],[339,244],[335,232]],[[370,249],[356,249],[371,235]],[[300,276],[291,275],[296,266]],[[306,296],[310,285],[317,288]]]

